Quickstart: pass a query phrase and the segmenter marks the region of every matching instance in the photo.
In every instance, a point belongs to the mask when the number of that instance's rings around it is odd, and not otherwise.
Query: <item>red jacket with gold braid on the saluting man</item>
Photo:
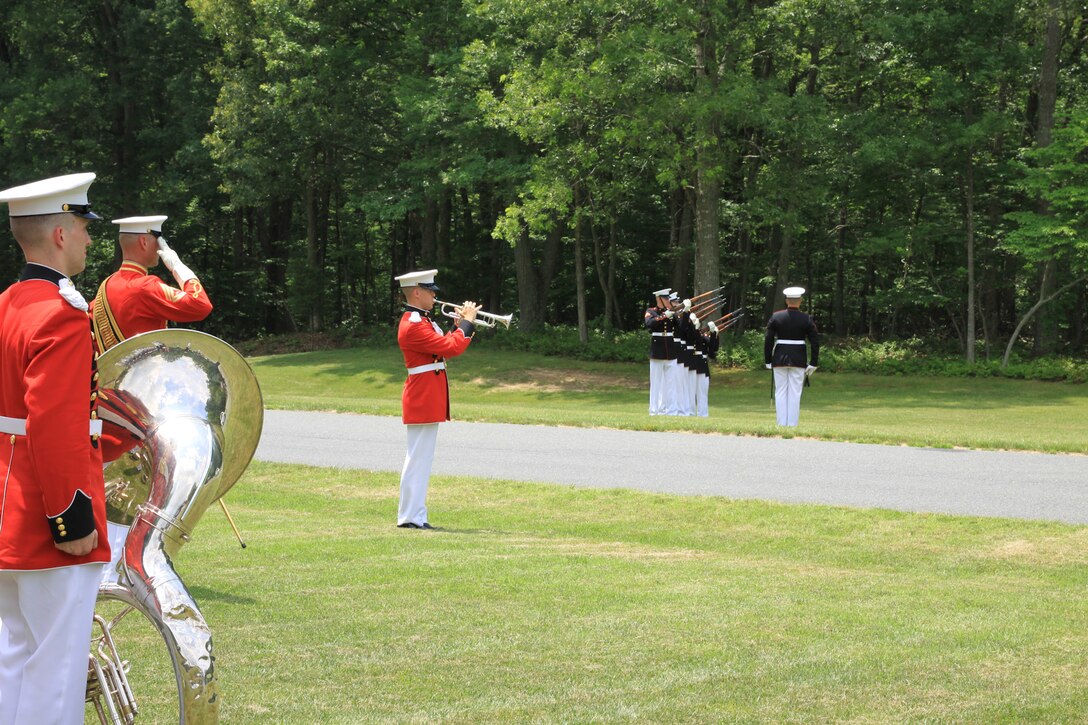
[[[169,322],[198,322],[209,314],[211,300],[199,280],[178,290],[134,261],[106,278],[90,308],[100,354],[141,332],[162,330]]]

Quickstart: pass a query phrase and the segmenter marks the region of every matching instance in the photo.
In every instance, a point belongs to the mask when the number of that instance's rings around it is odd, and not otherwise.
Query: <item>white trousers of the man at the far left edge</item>
[[[101,564],[0,572],[0,723],[83,723],[101,576]]]

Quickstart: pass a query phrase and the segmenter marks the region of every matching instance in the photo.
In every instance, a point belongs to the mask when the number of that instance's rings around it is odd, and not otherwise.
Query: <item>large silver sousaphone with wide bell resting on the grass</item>
[[[249,465],[264,418],[261,391],[233,347],[191,330],[131,337],[107,351],[98,370],[99,416],[122,428],[133,447],[104,471],[119,551],[98,595],[127,606],[110,622],[96,616],[101,635],[91,644],[88,701],[104,723],[133,722],[136,703],[111,630],[138,611],[173,662],[178,722],[215,723],[211,630],[172,560]]]

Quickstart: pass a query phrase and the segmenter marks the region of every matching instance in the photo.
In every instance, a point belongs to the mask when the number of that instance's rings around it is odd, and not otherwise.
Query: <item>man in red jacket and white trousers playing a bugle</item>
[[[397,328],[397,344],[405,357],[408,379],[400,398],[401,418],[408,428],[408,452],[400,472],[400,504],[397,526],[403,529],[431,529],[428,521],[426,490],[431,480],[438,423],[449,420],[449,382],[446,359],[463,353],[472,341],[475,303],[459,308],[460,319],[447,333],[431,317],[436,269],[408,272],[394,278],[400,283],[405,311]]]

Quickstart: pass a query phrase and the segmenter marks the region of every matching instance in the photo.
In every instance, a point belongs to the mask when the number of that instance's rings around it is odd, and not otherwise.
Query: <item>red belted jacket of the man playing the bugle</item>
[[[430,312],[408,307],[400,316],[397,344],[405,356],[405,367],[412,368],[444,362],[463,353],[472,341],[473,325],[460,322],[443,334]],[[400,396],[401,419],[407,425],[449,420],[449,382],[445,370],[428,370],[409,374]]]

